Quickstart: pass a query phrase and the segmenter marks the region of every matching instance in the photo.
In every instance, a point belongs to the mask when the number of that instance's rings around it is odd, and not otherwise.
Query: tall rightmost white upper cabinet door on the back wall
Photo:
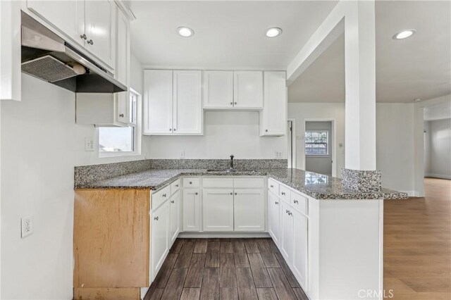
[[[261,135],[285,135],[287,89],[285,72],[264,73],[264,108],[260,113]]]

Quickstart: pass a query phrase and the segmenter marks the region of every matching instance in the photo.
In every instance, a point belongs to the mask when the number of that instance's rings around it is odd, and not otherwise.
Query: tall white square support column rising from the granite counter
[[[376,170],[374,1],[350,1],[345,16],[345,168]]]

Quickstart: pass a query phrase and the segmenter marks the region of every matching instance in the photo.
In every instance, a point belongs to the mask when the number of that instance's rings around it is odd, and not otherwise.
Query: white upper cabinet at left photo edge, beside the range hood
[[[0,100],[20,101],[20,1],[0,1]]]

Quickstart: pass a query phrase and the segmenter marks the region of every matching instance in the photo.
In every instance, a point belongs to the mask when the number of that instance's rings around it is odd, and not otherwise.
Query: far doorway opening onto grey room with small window
[[[332,121],[306,121],[304,148],[305,170],[332,176],[334,151]]]

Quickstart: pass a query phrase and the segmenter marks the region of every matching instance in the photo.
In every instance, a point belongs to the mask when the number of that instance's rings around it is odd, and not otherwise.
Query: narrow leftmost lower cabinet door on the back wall
[[[183,230],[199,231],[199,189],[183,190]]]

